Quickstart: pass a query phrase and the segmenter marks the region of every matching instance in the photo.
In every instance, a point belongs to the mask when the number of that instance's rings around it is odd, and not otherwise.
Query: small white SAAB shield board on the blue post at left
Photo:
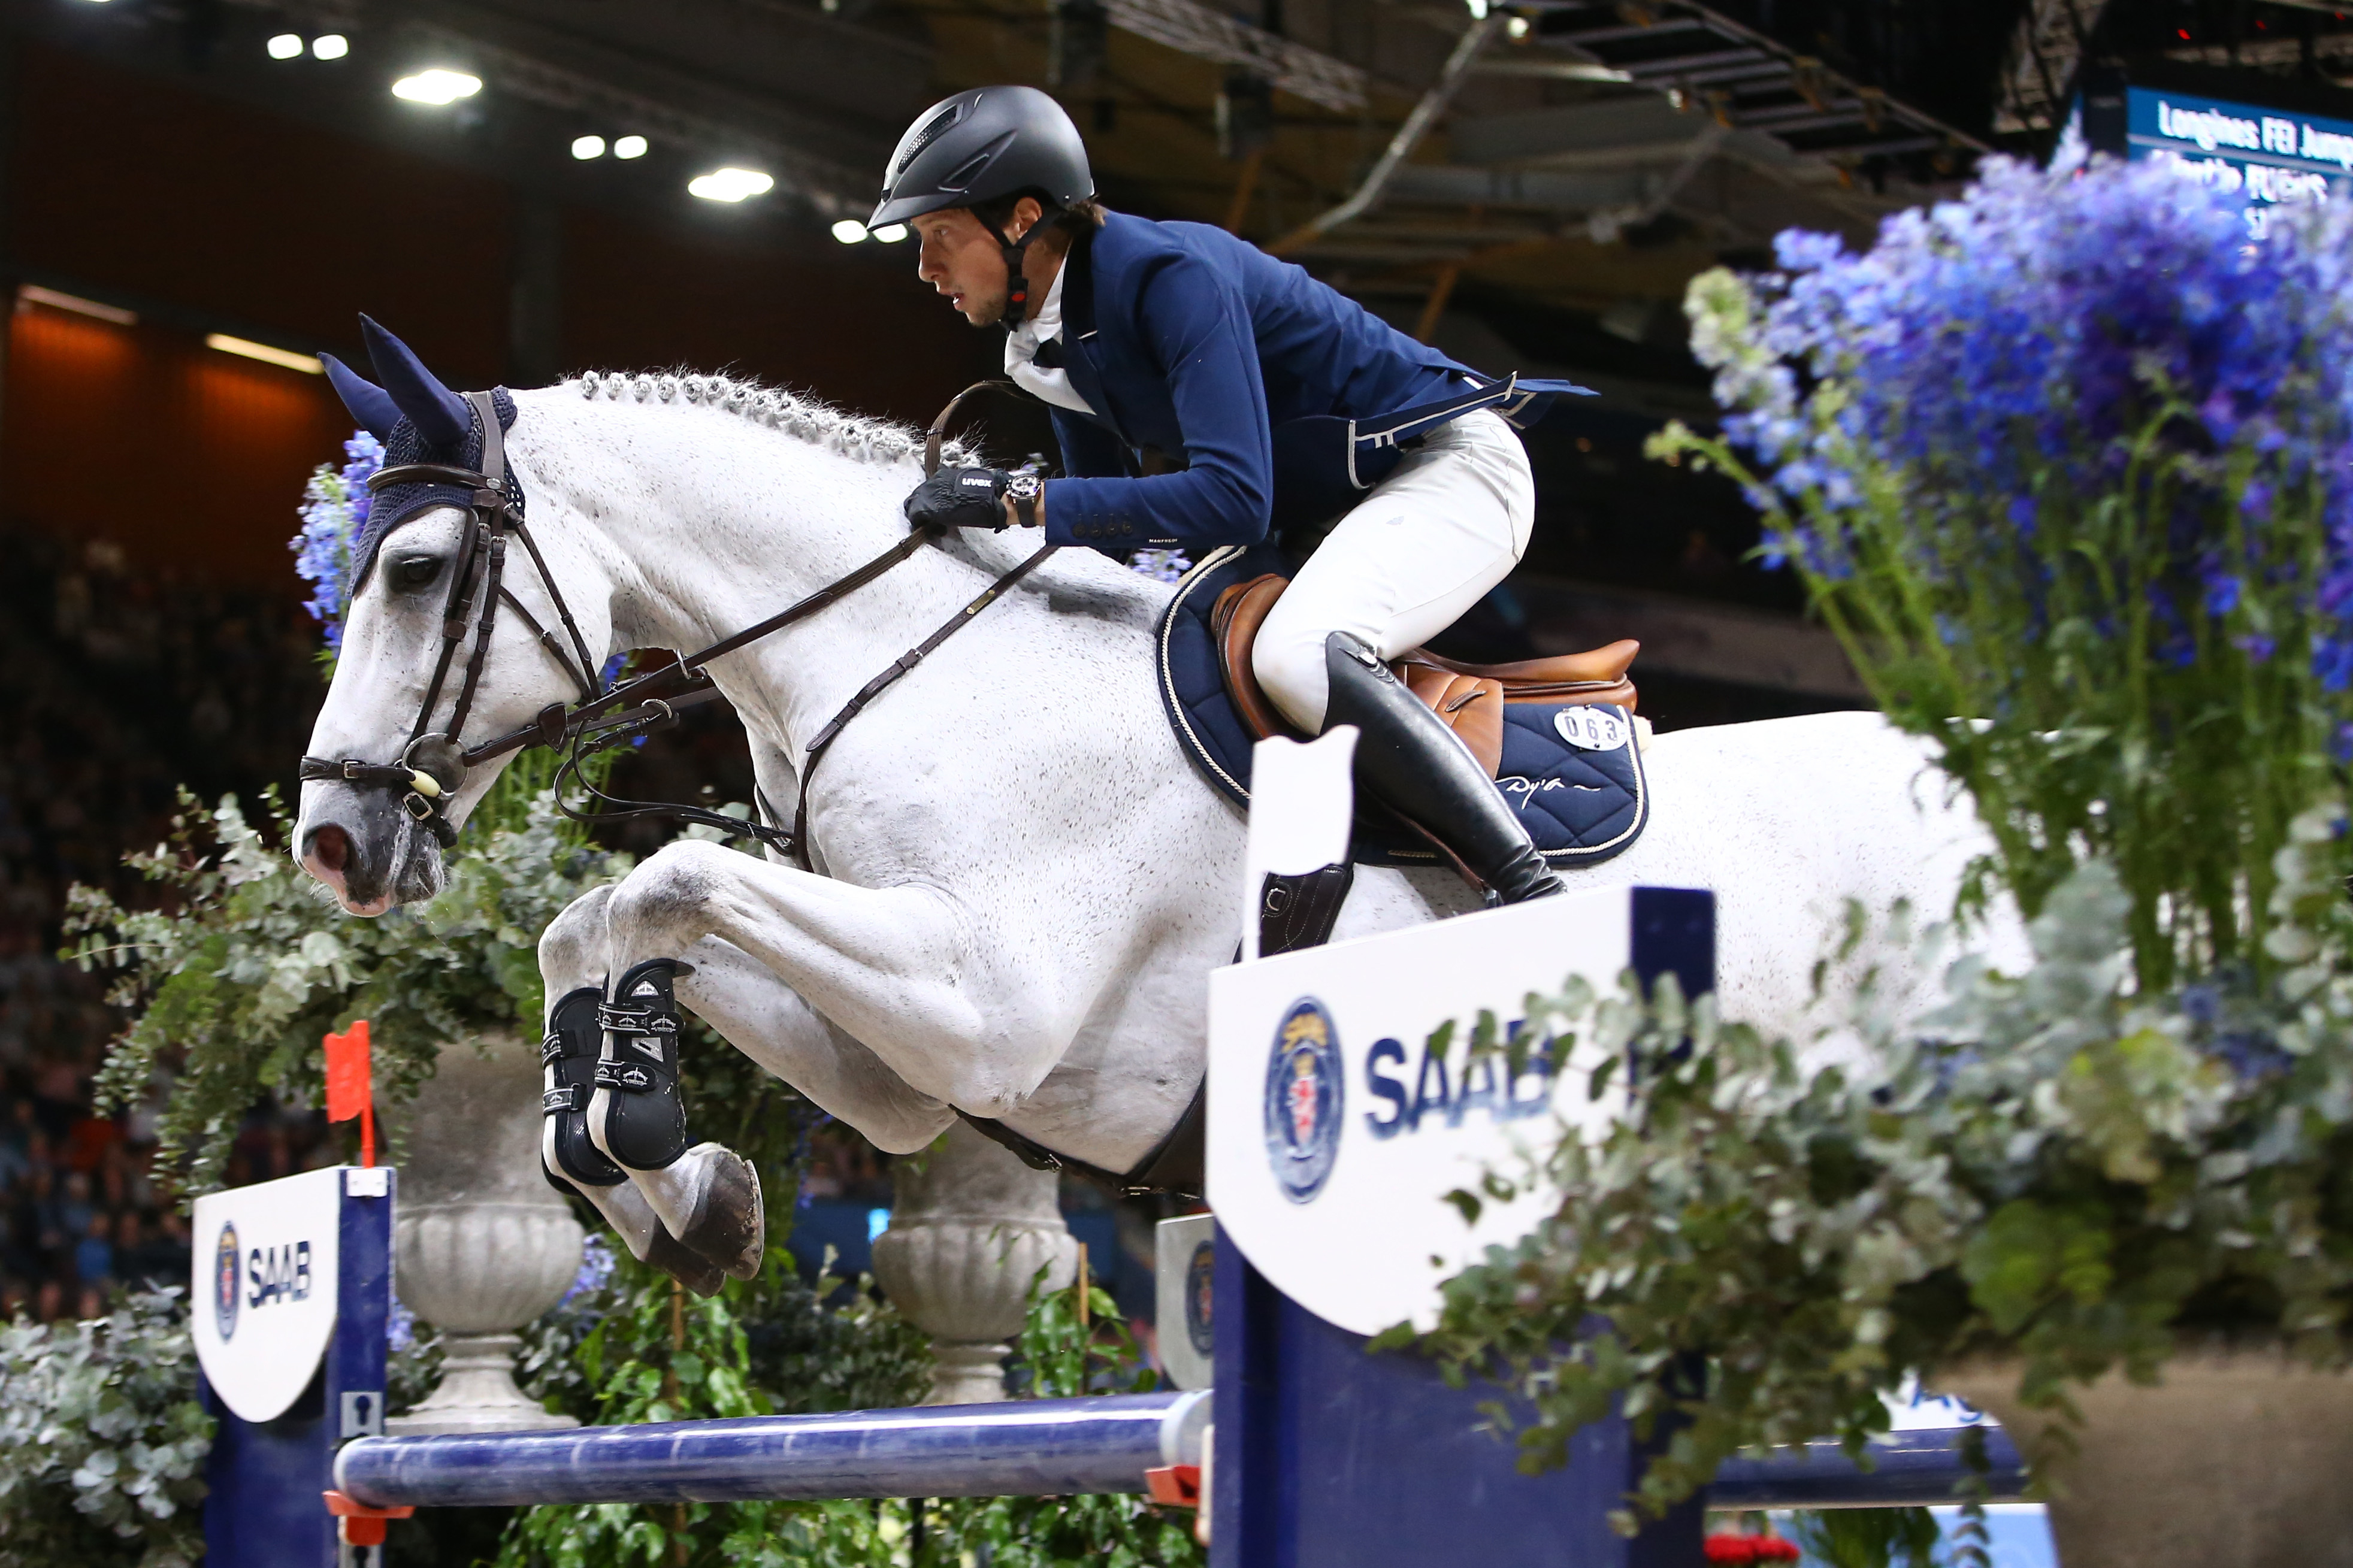
[[[195,1201],[195,1358],[242,1420],[285,1415],[327,1354],[346,1170],[306,1170]],[[381,1182],[384,1172],[351,1175]]]

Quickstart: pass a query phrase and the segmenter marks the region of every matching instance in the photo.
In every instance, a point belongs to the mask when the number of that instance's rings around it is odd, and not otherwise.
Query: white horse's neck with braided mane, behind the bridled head
[[[906,537],[899,501],[922,478],[911,461],[861,461],[711,407],[567,407],[558,393],[541,393],[546,417],[534,407],[518,421],[518,464],[546,476],[536,483],[588,527],[612,582],[616,647],[694,652]],[[536,443],[525,438],[532,426]],[[798,758],[861,685],[1035,544],[1035,534],[1007,532],[918,549],[711,673],[748,730]],[[1068,640],[1054,631],[1085,640],[1087,626],[1047,629],[1042,640]],[[1038,657],[1052,662],[1054,650],[1038,647]]]

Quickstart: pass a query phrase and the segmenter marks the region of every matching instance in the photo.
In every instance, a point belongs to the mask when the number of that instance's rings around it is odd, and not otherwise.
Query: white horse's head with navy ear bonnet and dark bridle
[[[381,386],[332,358],[327,372],[351,414],[384,443],[395,483],[374,494],[353,542],[344,647],[311,730],[294,845],[344,909],[376,916],[440,892],[442,838],[454,838],[513,756],[468,768],[466,749],[525,727],[551,702],[581,697],[612,619],[609,586],[572,530],[534,532],[529,549],[511,527],[520,513],[485,520],[473,509],[480,497],[464,473],[501,461],[515,480],[506,494],[520,497],[504,433],[513,400],[452,393],[400,339],[365,315],[360,323]],[[400,466],[419,466],[409,469],[414,480],[398,483]],[[487,605],[504,612],[478,655]]]

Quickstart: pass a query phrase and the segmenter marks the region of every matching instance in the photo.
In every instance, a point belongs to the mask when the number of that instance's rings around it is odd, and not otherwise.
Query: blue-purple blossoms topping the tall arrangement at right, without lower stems
[[[1925,534],[1920,570],[1986,570],[2007,532],[2031,577],[2047,574],[2033,539],[2049,504],[2162,483],[2169,549],[2144,563],[2148,631],[2151,652],[2179,666],[2200,617],[2271,655],[2275,631],[2245,624],[2249,589],[2285,586],[2268,530],[2289,492],[2318,487],[2332,549],[2301,593],[2325,622],[2315,671],[2344,690],[2353,205],[2282,207],[2264,242],[2240,207],[2162,162],[1988,160],[1958,200],[1887,219],[1868,252],[1781,235],[1781,271],[1751,294],[1701,311],[1694,292],[1692,344],[1715,370],[1725,438],[1769,476],[1751,499],[1809,518],[1791,530],[1795,549],[1835,572],[1842,551],[1814,530],[1871,504],[1864,471],[1892,466],[1920,513],[1948,525]],[[1814,388],[1833,381],[1826,405]],[[1788,553],[1774,539],[1762,558]]]

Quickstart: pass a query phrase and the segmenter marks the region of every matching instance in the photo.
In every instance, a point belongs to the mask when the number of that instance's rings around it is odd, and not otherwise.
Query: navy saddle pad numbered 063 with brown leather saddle
[[[1235,805],[1249,805],[1249,749],[1297,739],[1249,676],[1249,645],[1287,586],[1268,546],[1228,546],[1195,565],[1160,617],[1160,702],[1193,765]],[[1417,697],[1471,746],[1555,871],[1624,852],[1649,822],[1642,730],[1626,678],[1635,643],[1525,664],[1454,664],[1412,650],[1393,664]],[[1360,817],[1351,857],[1362,866],[1435,866],[1440,855],[1402,824]]]

